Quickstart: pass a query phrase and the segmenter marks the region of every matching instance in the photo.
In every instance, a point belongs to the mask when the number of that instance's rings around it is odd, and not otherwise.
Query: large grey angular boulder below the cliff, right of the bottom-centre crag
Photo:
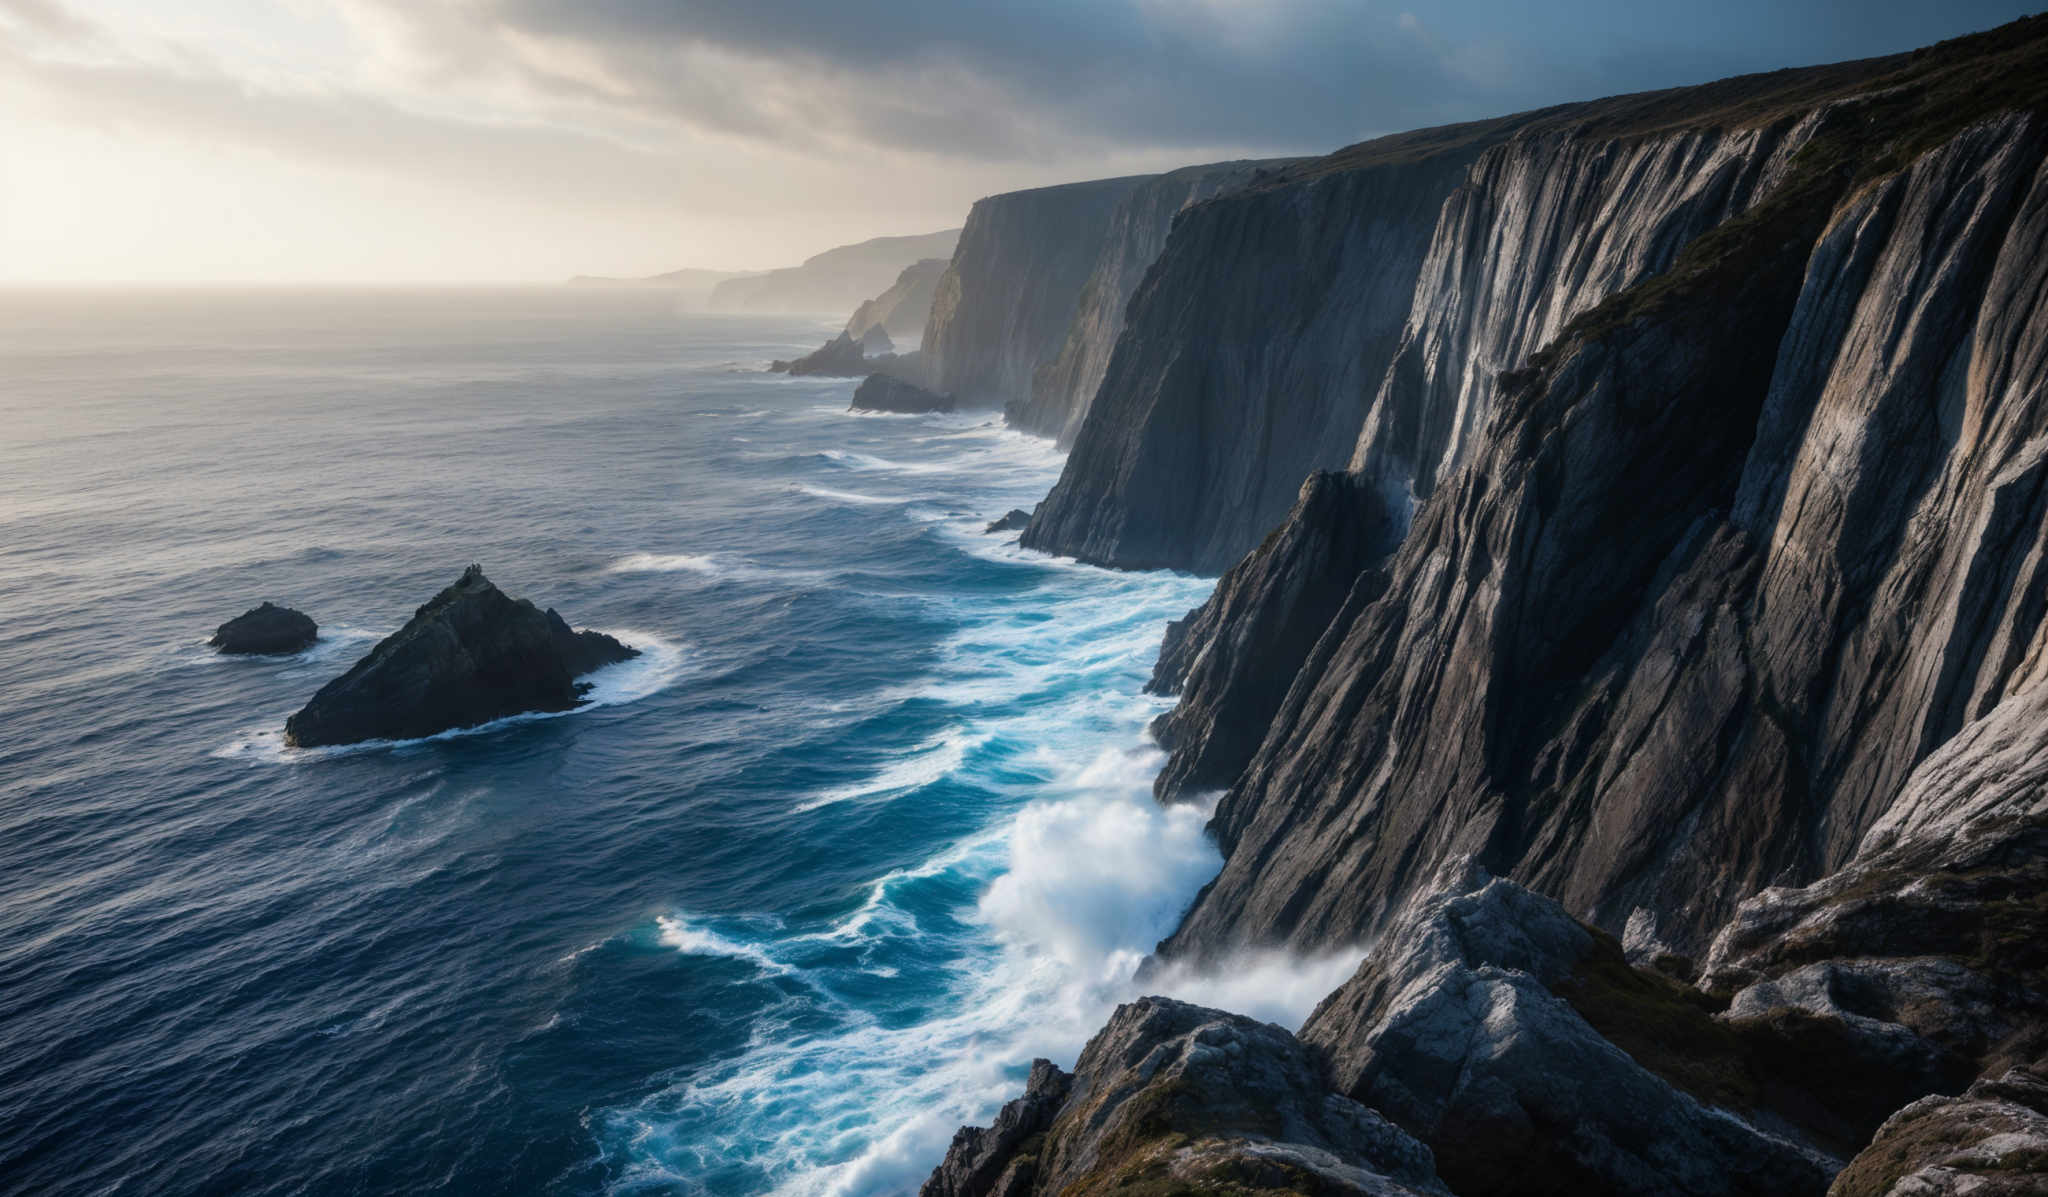
[[[1462,1197],[1823,1193],[1837,1160],[1681,1090],[1567,1000],[1606,1004],[1620,986],[1589,974],[1614,963],[1612,939],[1458,859],[1300,1037],[1337,1092],[1427,1144]],[[1640,1006],[1681,1037],[1710,1027],[1657,990]]]

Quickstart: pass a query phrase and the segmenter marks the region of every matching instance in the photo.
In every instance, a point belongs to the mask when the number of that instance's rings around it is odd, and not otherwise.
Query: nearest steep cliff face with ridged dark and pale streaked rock
[[[1694,953],[2011,691],[2048,592],[2044,135],[1960,125],[2044,55],[1960,45],[1802,119],[1765,201],[1503,381],[1169,949],[1370,937],[1481,853]]]

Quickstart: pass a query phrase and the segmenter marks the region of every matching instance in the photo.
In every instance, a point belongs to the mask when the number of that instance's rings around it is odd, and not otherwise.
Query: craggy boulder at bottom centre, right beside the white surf
[[[1430,1150],[1329,1092],[1284,1029],[1169,998],[1118,1006],[1071,1078],[1034,1064],[922,1197],[1120,1191],[1448,1197]]]

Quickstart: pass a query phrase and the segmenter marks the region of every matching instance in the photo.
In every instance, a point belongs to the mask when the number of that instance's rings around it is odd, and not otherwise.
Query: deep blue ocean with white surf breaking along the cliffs
[[[0,293],[0,1191],[907,1193],[1219,857],[1210,580],[1018,549],[1051,443],[653,291]],[[287,750],[477,562],[592,703]],[[293,658],[221,658],[260,601]],[[1356,959],[1147,990],[1298,1021]]]

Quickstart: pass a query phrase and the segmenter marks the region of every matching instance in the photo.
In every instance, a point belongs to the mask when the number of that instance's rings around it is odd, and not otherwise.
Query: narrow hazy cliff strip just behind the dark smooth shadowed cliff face
[[[1063,447],[1071,445],[1110,367],[1110,350],[1116,348],[1116,336],[1124,328],[1130,295],[1165,248],[1174,217],[1188,205],[1243,187],[1286,162],[1276,158],[1184,166],[1130,189],[1110,213],[1102,254],[1081,289],[1059,355],[1034,371],[1030,394],[1012,400],[1004,408],[1004,418],[1014,428],[1053,437]]]

